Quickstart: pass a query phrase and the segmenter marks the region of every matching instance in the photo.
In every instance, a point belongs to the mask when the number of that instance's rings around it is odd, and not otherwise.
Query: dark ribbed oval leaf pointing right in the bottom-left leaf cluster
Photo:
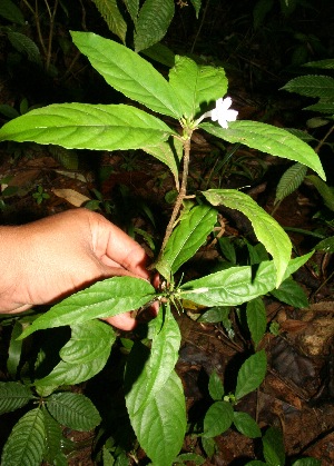
[[[47,408],[59,424],[79,432],[91,430],[101,422],[90,399],[80,394],[53,394],[47,400]]]

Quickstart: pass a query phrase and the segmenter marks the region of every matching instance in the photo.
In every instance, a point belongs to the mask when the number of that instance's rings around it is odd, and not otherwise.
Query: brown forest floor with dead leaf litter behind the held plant
[[[4,51],[2,51],[2,61]],[[1,58],[0,57],[0,58]],[[264,58],[262,58],[264,60]],[[262,66],[265,63],[262,62]],[[263,120],[279,127],[288,126],[288,119],[301,118],[301,101],[291,96],[272,93],[274,111],[267,112],[266,90],[258,93],[245,86],[244,70],[234,69],[230,75],[230,92],[234,108],[240,118]],[[90,79],[90,77],[89,77]],[[80,76],[80,82],[85,76]],[[276,87],[277,89],[277,87]],[[0,102],[18,106],[22,97],[7,72],[0,73]],[[38,100],[35,96],[31,103]],[[276,100],[275,100],[276,99]],[[52,101],[52,96],[48,96]],[[287,115],[288,113],[288,115]],[[294,115],[294,117],[292,117]],[[2,119],[4,122],[6,119]],[[303,115],[303,122],[305,116]],[[303,123],[302,123],[303,126]],[[227,147],[227,150],[232,149]],[[222,149],[203,133],[196,135],[191,148],[193,160],[189,191],[208,187],[238,188],[249,194],[265,210],[272,212],[278,175],[288,166],[247,148],[238,148],[225,172],[216,172]],[[49,147],[32,143],[0,145],[1,211],[3,225],[32,221],[65,209],[86,205],[89,200],[99,204],[99,211],[150,249],[140,230],[148,232],[150,241],[158,248],[171,207],[165,200],[174,189],[174,180],[166,167],[141,152],[78,152],[78,167],[66,168]],[[333,155],[332,155],[333,156]],[[70,156],[69,156],[70,157]],[[327,163],[325,159],[325,165]],[[41,187],[47,195],[37,202],[33,194]],[[322,199],[312,186],[304,184],[288,196],[275,211],[274,217],[284,227],[299,229],[289,232],[296,254],[304,254],[318,239],[301,232],[324,229],[314,215],[323,208]],[[149,212],[149,215],[147,214]],[[248,222],[235,212],[224,211],[225,236],[254,239]],[[151,221],[154,218],[154,222]],[[150,244],[151,246],[151,244]],[[212,270],[220,257],[213,238],[185,268],[187,277],[200,276]],[[333,258],[318,251],[296,275],[296,281],[310,298],[310,306],[297,309],[266,297],[268,327],[279,325],[276,335],[267,333],[261,343],[268,357],[267,375],[259,389],[246,396],[237,409],[249,413],[261,428],[278,427],[284,435],[286,455],[289,459],[313,456],[323,466],[334,464],[334,297]],[[224,381],[226,391],[233,388],[237,370],[250,350],[242,324],[232,313],[234,337],[227,335],[222,324],[198,324],[196,315],[205,309],[186,308],[184,314],[175,311],[179,323],[183,344],[177,373],[181,377],[189,418],[198,418],[207,406],[206,390],[209,375],[216,370]],[[195,317],[194,317],[195,316]],[[1,338],[1,334],[0,334]],[[0,380],[8,379],[3,368],[6,348],[0,348]],[[104,379],[99,384],[105,384]],[[109,380],[110,375],[106,380]],[[112,383],[112,376],[111,376]],[[80,387],[84,391],[86,385]],[[87,388],[89,390],[89,387]],[[2,438],[8,435],[14,417],[3,416]],[[2,432],[3,430],[3,432]],[[70,465],[94,465],[92,435],[65,433],[78,442],[78,449],[69,458]],[[258,440],[249,439],[234,429],[216,438],[217,453],[205,465],[234,466],[261,458]],[[200,444],[190,435],[186,437],[185,452],[203,454]],[[140,458],[140,452],[138,453]],[[136,464],[135,462],[132,464]],[[145,455],[139,464],[146,464]],[[191,463],[187,463],[191,465]]]

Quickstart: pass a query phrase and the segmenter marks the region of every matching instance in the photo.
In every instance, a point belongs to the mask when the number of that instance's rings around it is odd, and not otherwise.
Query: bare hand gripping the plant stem
[[[146,262],[145,250],[132,238],[84,208],[0,227],[0,313],[58,301],[112,276],[149,280]],[[136,326],[130,313],[105,320],[122,330]]]

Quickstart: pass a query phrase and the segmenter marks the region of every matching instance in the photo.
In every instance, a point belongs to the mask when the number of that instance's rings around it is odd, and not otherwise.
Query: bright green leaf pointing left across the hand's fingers
[[[97,281],[51,307],[48,313],[36,319],[20,338],[45,328],[84,324],[134,310],[150,301],[154,296],[155,288],[140,278],[112,277]]]

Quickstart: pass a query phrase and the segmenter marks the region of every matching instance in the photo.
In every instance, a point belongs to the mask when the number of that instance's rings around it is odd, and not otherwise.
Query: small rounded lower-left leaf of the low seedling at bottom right
[[[216,437],[226,432],[233,423],[233,407],[227,401],[216,401],[206,412],[204,437]]]

